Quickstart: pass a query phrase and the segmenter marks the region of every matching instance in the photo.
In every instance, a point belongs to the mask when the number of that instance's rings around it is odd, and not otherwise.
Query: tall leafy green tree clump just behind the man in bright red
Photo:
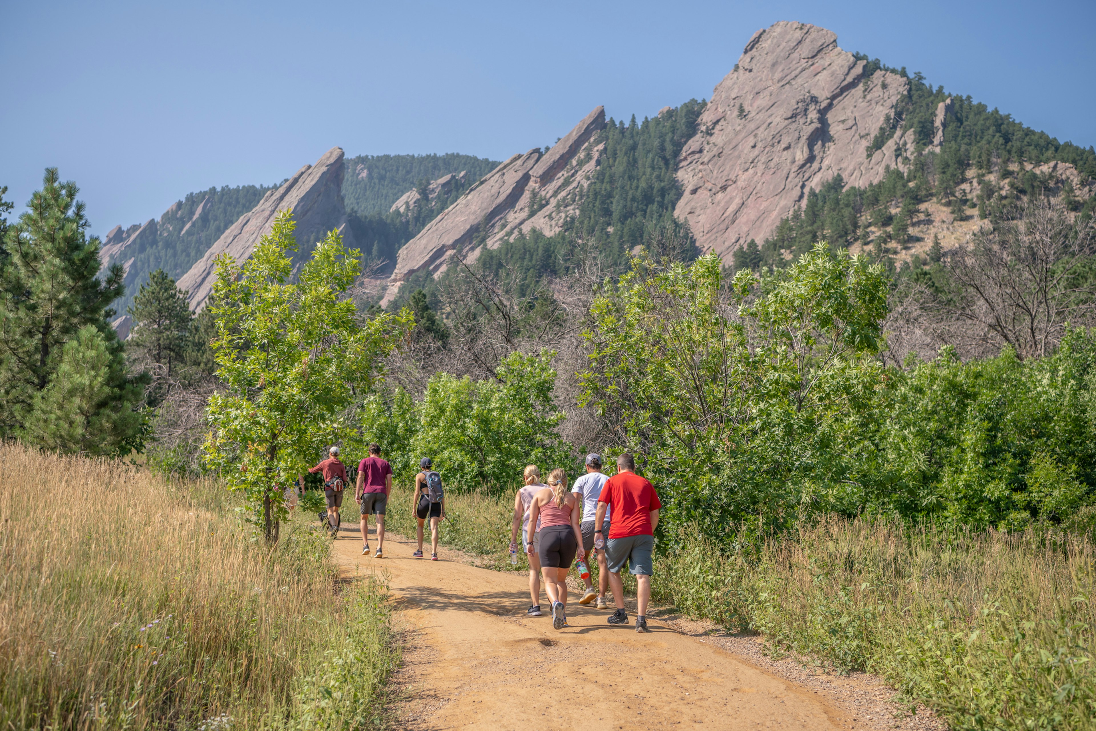
[[[621,424],[666,526],[723,536],[758,514],[855,505],[846,476],[882,376],[886,295],[878,267],[825,244],[785,274],[741,272],[732,292],[715,254],[639,260],[592,307],[583,401]]]

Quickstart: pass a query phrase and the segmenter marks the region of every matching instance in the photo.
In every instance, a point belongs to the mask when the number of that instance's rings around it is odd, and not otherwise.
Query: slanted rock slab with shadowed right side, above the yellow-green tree
[[[270,233],[274,217],[286,208],[293,209],[297,222],[296,261],[311,253],[316,242],[328,231],[338,229],[346,244],[356,245],[346,227],[346,208],[342,198],[343,151],[332,147],[315,165],[305,165],[296,174],[263,196],[251,212],[226,230],[205,255],[179,279],[179,287],[189,292],[191,309],[201,310],[213,292],[214,259],[222,253],[237,261],[251,255],[259,240]]]

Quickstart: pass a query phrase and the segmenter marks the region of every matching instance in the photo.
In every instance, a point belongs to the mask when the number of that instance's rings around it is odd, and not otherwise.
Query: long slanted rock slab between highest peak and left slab
[[[457,253],[472,260],[483,245],[493,249],[520,232],[558,232],[578,207],[578,189],[596,170],[595,135],[604,128],[605,108],[597,106],[547,152],[515,155],[470,187],[400,249],[381,306],[409,276],[423,270],[436,274]]]

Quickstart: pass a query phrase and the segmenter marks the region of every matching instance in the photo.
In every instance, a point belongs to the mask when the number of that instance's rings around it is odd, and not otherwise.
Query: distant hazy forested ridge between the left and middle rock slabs
[[[346,209],[365,218],[387,214],[396,201],[422,183],[449,173],[467,173],[469,184],[499,167],[471,155],[362,155],[347,158],[343,176]],[[372,242],[370,242],[372,244]],[[365,250],[366,255],[369,250]]]

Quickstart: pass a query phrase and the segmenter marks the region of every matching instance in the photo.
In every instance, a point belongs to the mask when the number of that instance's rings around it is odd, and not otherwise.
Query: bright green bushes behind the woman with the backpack
[[[511,353],[498,380],[434,375],[422,399],[397,389],[389,402],[366,400],[362,431],[377,442],[396,479],[410,482],[430,457],[456,491],[509,491],[528,464],[573,467],[556,427],[563,421],[552,400],[555,353]]]

